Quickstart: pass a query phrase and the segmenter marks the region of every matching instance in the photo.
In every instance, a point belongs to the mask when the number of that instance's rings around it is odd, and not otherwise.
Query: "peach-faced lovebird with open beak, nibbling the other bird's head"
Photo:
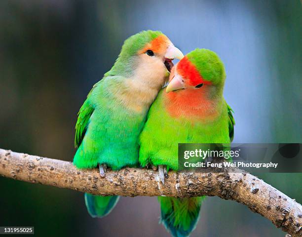
[[[138,164],[138,138],[147,113],[173,67],[184,55],[159,31],[143,31],[125,40],[112,69],[97,82],[78,112],[74,164],[113,170]],[[113,209],[117,196],[85,194],[92,217]]]

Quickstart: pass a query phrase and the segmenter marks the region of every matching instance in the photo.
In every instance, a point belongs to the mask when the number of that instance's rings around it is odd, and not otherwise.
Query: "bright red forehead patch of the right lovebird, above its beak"
[[[204,80],[200,73],[197,71],[194,64],[192,64],[187,56],[185,56],[179,63],[177,64],[177,72],[184,79],[187,79],[187,83],[192,86],[196,86],[198,84],[211,84],[210,81]]]

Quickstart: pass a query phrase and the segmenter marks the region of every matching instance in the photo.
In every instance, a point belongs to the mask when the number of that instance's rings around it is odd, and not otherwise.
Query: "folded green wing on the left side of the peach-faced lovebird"
[[[87,95],[87,99],[85,100],[84,104],[80,108],[78,114],[77,114],[77,120],[76,120],[76,135],[75,135],[75,147],[78,148],[81,144],[85,133],[87,129],[87,125],[90,119],[90,116],[92,115],[94,111],[94,106],[92,105],[90,101],[90,95],[94,88],[100,83],[101,81],[98,81],[95,83],[90,90],[89,94]]]

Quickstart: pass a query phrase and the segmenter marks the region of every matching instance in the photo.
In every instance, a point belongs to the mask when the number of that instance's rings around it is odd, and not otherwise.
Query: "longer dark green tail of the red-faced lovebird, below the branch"
[[[161,223],[173,237],[188,237],[195,229],[203,197],[158,197]]]

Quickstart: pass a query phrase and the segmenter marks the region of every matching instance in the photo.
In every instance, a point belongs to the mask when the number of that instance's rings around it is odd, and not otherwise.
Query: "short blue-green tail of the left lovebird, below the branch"
[[[92,217],[102,218],[108,215],[116,205],[119,196],[96,196],[85,193],[85,204]]]

